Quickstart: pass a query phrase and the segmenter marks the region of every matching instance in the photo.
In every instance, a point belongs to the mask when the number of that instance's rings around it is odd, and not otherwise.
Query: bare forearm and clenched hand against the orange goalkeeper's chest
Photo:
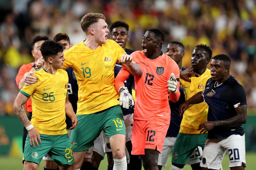
[[[140,77],[142,75],[142,70],[140,66],[132,61],[132,55],[123,54],[121,56],[121,65],[128,70],[133,76]]]

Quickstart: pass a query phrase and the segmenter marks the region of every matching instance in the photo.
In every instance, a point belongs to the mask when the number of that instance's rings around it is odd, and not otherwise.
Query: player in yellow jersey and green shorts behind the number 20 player
[[[193,50],[191,65],[195,74],[200,76],[191,76],[191,82],[180,79],[186,100],[204,90],[206,81],[211,77],[210,70],[207,69],[211,57],[212,49],[206,45],[197,45]],[[190,105],[184,112],[180,131],[173,148],[172,170],[181,170],[197,146],[204,148],[207,134],[200,134],[197,129],[200,123],[207,120],[207,112],[206,103]]]

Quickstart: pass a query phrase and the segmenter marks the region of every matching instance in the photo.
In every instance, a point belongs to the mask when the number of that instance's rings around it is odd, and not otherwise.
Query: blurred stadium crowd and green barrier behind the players
[[[34,61],[32,39],[36,35],[52,39],[61,32],[77,44],[86,38],[80,19],[88,12],[103,13],[109,26],[116,20],[127,22],[127,48],[134,50],[142,49],[147,29],[160,28],[165,34],[164,52],[170,41],[185,45],[186,68],[200,43],[210,46],[213,56],[230,56],[231,75],[247,95],[246,151],[256,157],[255,0],[0,0],[0,155],[22,155],[23,127],[12,106],[18,93],[16,74],[22,64]]]

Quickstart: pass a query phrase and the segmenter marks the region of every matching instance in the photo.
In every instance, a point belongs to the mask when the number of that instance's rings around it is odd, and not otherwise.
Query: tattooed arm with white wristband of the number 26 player
[[[28,98],[29,98],[28,96],[25,96],[24,94],[19,92],[14,101],[13,108],[16,111],[17,117],[20,120],[20,122],[28,130],[30,145],[32,146],[33,144],[33,146],[35,147],[35,144],[39,146],[37,139],[40,144],[41,144],[41,139],[38,131],[34,128],[34,126],[28,120],[28,116],[23,107],[23,105],[28,101]]]

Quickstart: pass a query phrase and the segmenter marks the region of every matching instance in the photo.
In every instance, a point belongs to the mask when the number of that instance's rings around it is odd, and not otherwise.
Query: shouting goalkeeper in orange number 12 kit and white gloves
[[[140,65],[143,72],[142,76],[134,77],[136,104],[132,154],[141,156],[144,169],[158,169],[157,158],[162,151],[171,117],[168,90],[173,102],[180,97],[180,69],[161,51],[163,42],[164,33],[161,30],[149,29],[143,36],[143,51],[132,53],[133,61]],[[115,79],[116,90],[120,92],[124,88],[123,82],[129,75],[130,72],[124,68],[120,70]]]

